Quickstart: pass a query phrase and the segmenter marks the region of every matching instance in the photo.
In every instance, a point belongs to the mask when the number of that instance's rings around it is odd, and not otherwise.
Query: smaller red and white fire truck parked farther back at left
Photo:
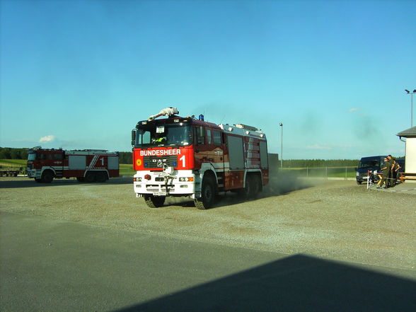
[[[101,149],[28,151],[28,177],[51,183],[54,178],[76,178],[79,182],[105,182],[119,176],[118,154]]]

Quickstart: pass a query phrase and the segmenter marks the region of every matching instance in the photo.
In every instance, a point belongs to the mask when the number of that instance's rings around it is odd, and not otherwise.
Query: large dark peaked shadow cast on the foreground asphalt
[[[133,311],[416,311],[416,282],[306,255],[130,306]]]

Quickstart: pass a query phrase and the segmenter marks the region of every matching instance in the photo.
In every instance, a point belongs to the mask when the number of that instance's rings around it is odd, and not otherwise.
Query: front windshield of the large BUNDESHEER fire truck
[[[183,122],[167,125],[139,125],[135,130],[134,147],[189,146],[192,144],[190,125]]]

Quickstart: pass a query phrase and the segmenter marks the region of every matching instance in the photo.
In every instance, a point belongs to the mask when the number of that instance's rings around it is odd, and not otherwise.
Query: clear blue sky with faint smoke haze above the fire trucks
[[[405,154],[416,1],[0,5],[2,147],[130,151],[175,106],[259,127],[272,153],[282,122],[283,158]]]

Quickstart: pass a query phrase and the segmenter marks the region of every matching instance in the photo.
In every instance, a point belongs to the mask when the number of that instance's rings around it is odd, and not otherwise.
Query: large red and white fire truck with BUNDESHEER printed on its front
[[[216,125],[164,108],[132,130],[134,192],[149,207],[188,196],[199,209],[219,192],[253,197],[269,182],[267,140],[248,125]],[[168,116],[156,120],[159,116]]]

